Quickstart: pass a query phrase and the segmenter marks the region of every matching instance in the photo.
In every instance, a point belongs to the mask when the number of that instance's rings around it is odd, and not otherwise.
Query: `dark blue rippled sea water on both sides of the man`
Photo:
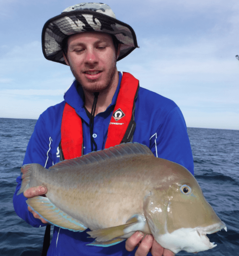
[[[39,256],[45,228],[34,228],[13,209],[16,177],[36,120],[0,118],[0,256]],[[228,231],[208,235],[217,246],[198,256],[239,255],[239,131],[188,128],[195,178]],[[189,212],[190,214],[190,212]],[[179,252],[177,255],[192,255]]]

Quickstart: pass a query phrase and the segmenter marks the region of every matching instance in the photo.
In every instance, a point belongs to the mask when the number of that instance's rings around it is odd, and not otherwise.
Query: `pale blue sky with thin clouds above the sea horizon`
[[[37,119],[62,102],[70,68],[42,54],[44,23],[72,0],[0,1],[0,118]],[[238,0],[107,0],[138,45],[117,62],[172,99],[187,127],[239,130]]]

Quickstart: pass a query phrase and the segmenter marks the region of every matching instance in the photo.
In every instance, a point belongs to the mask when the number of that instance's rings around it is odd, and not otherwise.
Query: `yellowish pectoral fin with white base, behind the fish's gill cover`
[[[133,232],[137,230],[144,230],[145,223],[145,217],[137,214],[129,219],[126,224],[116,227],[107,227],[99,230],[93,230],[87,233],[91,235],[91,238],[96,238],[97,242],[112,241],[110,243],[114,243],[113,240],[117,238],[128,238],[133,234]]]

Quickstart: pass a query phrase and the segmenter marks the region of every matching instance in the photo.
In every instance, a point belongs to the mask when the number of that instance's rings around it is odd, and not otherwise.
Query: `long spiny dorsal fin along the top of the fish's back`
[[[91,152],[89,154],[83,155],[82,157],[64,160],[62,162],[57,163],[56,165],[53,165],[49,169],[57,170],[59,168],[64,167],[75,167],[76,165],[86,165],[95,162],[99,163],[112,158],[119,159],[121,157],[133,157],[138,155],[153,155],[153,153],[147,146],[143,144],[129,142],[114,147],[110,147],[109,149]]]

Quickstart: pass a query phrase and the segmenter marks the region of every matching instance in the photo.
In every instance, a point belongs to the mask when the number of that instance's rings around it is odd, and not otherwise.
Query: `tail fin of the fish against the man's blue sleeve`
[[[22,172],[22,183],[21,183],[21,188],[19,189],[17,195],[23,193],[26,191],[28,188],[31,187],[30,182],[32,181],[32,173],[34,172],[35,168],[39,168],[38,166],[42,167],[39,164],[28,164],[28,165],[23,165],[21,167],[21,172]],[[44,167],[42,167],[44,168]],[[44,168],[45,169],[45,168]]]

